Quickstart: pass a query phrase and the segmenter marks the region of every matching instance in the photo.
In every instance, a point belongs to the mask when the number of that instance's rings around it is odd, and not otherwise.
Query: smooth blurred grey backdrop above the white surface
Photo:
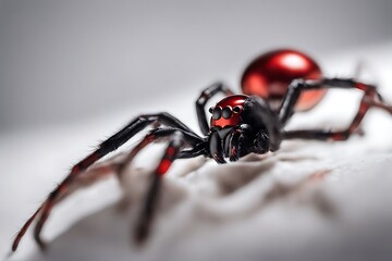
[[[238,89],[266,50],[298,48],[322,63],[391,39],[391,12],[389,0],[0,0],[0,133],[156,111],[172,96],[193,110],[213,80]]]

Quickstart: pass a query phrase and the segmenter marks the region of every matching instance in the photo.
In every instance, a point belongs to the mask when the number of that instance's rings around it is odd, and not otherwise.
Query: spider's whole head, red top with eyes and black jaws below
[[[250,152],[265,153],[269,150],[265,124],[254,113],[255,102],[254,97],[233,95],[210,109],[209,153],[217,162],[224,163],[225,157],[235,161]]]

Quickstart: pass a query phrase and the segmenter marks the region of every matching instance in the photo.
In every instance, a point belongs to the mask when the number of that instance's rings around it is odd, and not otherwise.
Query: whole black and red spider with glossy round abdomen
[[[221,164],[226,163],[226,160],[237,161],[249,153],[277,151],[282,140],[286,139],[346,140],[358,132],[368,109],[380,108],[392,114],[392,107],[383,102],[376,86],[352,78],[323,77],[319,65],[307,54],[296,50],[279,49],[261,54],[246,67],[241,85],[241,95],[234,95],[221,83],[201,91],[196,100],[196,112],[203,136],[167,112],[136,116],[72,167],[69,175],[20,229],[12,251],[17,249],[35,219],[34,237],[44,249],[46,245],[40,237],[41,229],[54,204],[70,192],[70,186],[90,165],[148,126],[152,126],[152,130],[131,150],[127,161],[149,144],[163,140],[169,144],[152,173],[135,229],[137,243],[143,243],[148,237],[162,177],[174,160],[203,156]],[[330,88],[359,89],[364,92],[358,112],[346,129],[285,130],[286,123],[295,112],[313,109]],[[225,95],[225,98],[209,109],[211,117],[208,122],[205,107],[219,92]]]

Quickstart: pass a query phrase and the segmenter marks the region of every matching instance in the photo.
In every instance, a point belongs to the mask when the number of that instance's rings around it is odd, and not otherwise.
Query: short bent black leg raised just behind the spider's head
[[[208,86],[206,89],[204,89],[199,96],[199,98],[196,100],[196,113],[198,123],[201,129],[201,133],[204,135],[207,135],[209,132],[209,124],[206,117],[205,107],[209,99],[211,99],[218,92],[223,92],[225,96],[233,95],[233,91],[231,91],[226,86],[224,86],[222,83],[216,83],[211,86]]]

